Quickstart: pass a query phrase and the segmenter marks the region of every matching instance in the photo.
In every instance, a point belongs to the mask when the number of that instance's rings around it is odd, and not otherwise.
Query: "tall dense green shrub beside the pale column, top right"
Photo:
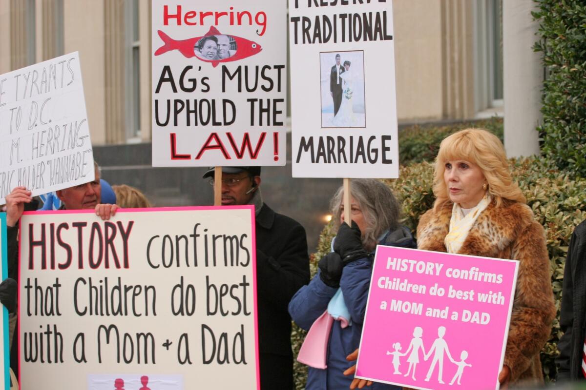
[[[547,69],[541,101],[541,152],[571,175],[586,177],[586,5],[584,0],[536,0]]]

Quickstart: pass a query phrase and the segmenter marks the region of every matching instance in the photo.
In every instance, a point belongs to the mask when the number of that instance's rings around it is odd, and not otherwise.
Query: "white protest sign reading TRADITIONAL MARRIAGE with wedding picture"
[[[289,2],[294,177],[397,178],[391,1]]]

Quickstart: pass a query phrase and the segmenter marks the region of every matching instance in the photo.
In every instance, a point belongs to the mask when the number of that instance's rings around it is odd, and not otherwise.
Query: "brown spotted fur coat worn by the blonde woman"
[[[418,249],[447,251],[444,238],[452,206],[447,202],[421,216]],[[493,201],[478,217],[458,253],[519,261],[505,364],[510,368],[512,384],[543,382],[539,352],[550,337],[556,308],[545,232],[532,210],[506,199],[497,207]]]

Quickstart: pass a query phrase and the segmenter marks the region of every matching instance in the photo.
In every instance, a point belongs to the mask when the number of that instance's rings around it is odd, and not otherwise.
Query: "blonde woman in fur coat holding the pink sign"
[[[543,227],[513,182],[500,140],[466,129],[440,144],[435,160],[434,208],[417,227],[417,247],[519,261],[519,277],[501,389],[543,382],[539,352],[556,308]]]

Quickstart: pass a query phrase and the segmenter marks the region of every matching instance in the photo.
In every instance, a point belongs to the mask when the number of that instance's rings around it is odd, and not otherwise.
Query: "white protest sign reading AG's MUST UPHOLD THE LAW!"
[[[285,0],[152,1],[152,164],[285,165]]]

